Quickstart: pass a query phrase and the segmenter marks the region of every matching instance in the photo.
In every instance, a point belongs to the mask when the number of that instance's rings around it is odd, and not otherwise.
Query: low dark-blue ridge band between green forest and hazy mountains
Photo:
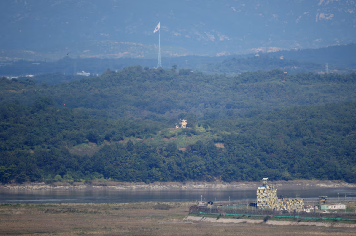
[[[247,71],[268,71],[274,68],[288,73],[313,72],[313,73],[350,73],[356,70],[354,55],[356,54],[356,44],[329,46],[319,49],[303,49],[279,51],[276,53],[257,53],[247,55],[227,55],[220,57],[209,56],[181,56],[162,57],[163,68],[170,69],[176,65],[178,70],[189,68],[193,71],[204,73],[226,73],[235,75],[236,73]],[[156,67],[157,59],[140,58],[72,58],[65,56],[58,61],[7,61],[0,64],[1,76],[25,76],[40,75],[47,73],[63,73],[73,75],[77,71],[101,74],[105,70],[122,70],[125,67],[140,65],[142,67]],[[47,76],[48,77],[48,76]],[[57,77],[57,75],[55,76]],[[55,84],[67,81],[50,81],[35,78],[37,83]],[[72,79],[75,77],[71,77]]]

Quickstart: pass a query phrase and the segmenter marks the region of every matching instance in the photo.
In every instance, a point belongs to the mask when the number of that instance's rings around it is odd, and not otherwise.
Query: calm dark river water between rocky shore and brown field
[[[280,195],[300,198],[328,196],[348,201],[356,200],[354,188],[327,188],[307,190],[279,190]],[[52,190],[52,191],[9,191],[0,190],[0,203],[122,203],[122,202],[187,202],[200,201],[249,201],[256,198],[256,190]]]

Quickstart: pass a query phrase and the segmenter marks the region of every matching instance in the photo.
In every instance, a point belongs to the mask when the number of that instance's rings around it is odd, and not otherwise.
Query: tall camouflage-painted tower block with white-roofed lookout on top
[[[263,178],[263,185],[257,189],[257,207],[276,209],[278,207],[277,189],[268,183],[268,178]]]

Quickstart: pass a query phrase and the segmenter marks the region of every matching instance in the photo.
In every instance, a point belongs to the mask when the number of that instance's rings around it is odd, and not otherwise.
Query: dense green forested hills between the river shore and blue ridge
[[[2,78],[0,182],[354,182],[355,79],[141,66],[57,85]]]

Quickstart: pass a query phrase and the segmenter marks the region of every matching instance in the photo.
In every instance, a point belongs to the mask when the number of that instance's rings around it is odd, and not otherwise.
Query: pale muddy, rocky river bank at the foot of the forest
[[[344,181],[321,181],[321,180],[293,180],[293,181],[271,181],[277,189],[311,189],[311,188],[356,188],[355,183]],[[154,182],[127,183],[127,182],[94,182],[85,183],[24,183],[0,185],[0,190],[11,191],[52,191],[52,190],[187,190],[187,189],[212,189],[212,190],[253,190],[261,185],[261,182]]]

